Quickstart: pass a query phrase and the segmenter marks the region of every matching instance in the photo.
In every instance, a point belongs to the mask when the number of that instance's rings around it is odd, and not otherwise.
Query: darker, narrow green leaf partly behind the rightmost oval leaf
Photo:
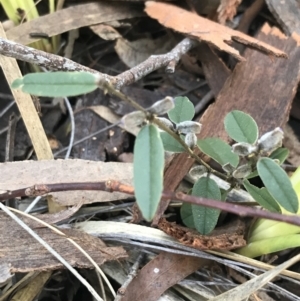
[[[281,213],[280,206],[265,187],[258,188],[250,184],[248,180],[244,180],[243,185],[259,205],[269,211]]]

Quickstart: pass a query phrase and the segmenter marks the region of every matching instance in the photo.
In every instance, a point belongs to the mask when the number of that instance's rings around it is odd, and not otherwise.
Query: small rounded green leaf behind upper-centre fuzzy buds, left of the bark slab
[[[192,120],[195,115],[193,103],[185,96],[175,97],[175,107],[168,112],[170,120],[174,123]]]

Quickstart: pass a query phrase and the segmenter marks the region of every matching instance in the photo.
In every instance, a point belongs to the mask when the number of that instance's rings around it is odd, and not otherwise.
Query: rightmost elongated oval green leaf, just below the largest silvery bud
[[[261,158],[257,163],[257,171],[272,197],[284,209],[296,213],[299,207],[298,197],[284,170],[272,159]]]

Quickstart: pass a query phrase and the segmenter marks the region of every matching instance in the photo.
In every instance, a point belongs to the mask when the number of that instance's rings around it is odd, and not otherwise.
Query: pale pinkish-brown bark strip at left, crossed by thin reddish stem
[[[0,192],[35,184],[97,182],[110,179],[133,186],[131,163],[96,162],[88,160],[20,161],[0,164]],[[65,191],[53,193],[53,200],[64,206],[94,202],[110,202],[127,198],[119,192]]]

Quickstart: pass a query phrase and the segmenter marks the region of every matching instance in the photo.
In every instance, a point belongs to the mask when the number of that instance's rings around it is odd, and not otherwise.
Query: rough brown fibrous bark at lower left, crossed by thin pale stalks
[[[36,222],[32,222],[31,219],[23,217],[21,219],[29,226],[33,223],[36,225]],[[24,273],[63,268],[63,265],[52,254],[5,213],[0,214],[0,228],[1,262],[9,264],[11,272]],[[65,237],[48,228],[36,228],[34,230],[72,266],[79,268],[93,267],[90,261]],[[100,239],[82,231],[61,231],[68,238],[77,242],[99,265],[107,260],[127,257],[122,247],[106,247]],[[24,260],[25,258],[26,260]]]

